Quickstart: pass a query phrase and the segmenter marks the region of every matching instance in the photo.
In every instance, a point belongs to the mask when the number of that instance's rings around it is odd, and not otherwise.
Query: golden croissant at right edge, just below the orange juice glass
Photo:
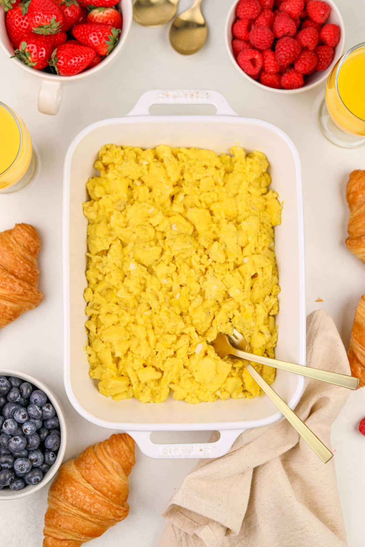
[[[350,208],[346,246],[365,263],[365,171],[352,171],[347,182],[346,200]]]

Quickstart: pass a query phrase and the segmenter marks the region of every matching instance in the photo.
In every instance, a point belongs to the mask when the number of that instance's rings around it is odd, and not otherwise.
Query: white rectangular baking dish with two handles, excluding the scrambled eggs
[[[149,115],[149,107],[157,103],[213,104],[217,114]],[[276,355],[304,365],[304,241],[298,152],[283,131],[265,121],[237,116],[218,92],[190,90],[149,91],[126,117],[86,127],[67,151],[63,179],[63,298],[65,388],[71,404],[86,420],[98,426],[128,432],[147,456],[222,456],[245,429],[280,419],[280,412],[265,395],[199,405],[189,405],[172,397],[161,404],[142,404],[136,399],[117,402],[101,395],[97,382],[88,375],[83,299],[87,220],[81,204],[87,199],[85,182],[96,174],[92,165],[97,152],[102,144],[110,142],[142,148],[165,143],[210,148],[216,152],[228,152],[230,146],[239,143],[246,150],[258,149],[268,156],[273,187],[284,202],[282,224],[275,230],[281,285]],[[294,408],[303,393],[304,379],[278,370],[274,387]],[[221,437],[216,443],[160,445],[150,440],[150,432],[157,430],[219,430]]]

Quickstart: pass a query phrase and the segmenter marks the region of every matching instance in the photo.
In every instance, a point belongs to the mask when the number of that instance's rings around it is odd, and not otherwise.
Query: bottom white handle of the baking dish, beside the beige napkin
[[[150,439],[150,431],[126,431],[144,455],[157,459],[219,458],[224,456],[244,429],[219,431],[221,437],[214,443],[157,444]]]

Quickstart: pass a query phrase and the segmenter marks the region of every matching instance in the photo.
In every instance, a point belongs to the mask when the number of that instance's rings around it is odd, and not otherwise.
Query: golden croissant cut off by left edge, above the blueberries
[[[40,242],[30,224],[0,232],[0,328],[42,302],[38,290]]]

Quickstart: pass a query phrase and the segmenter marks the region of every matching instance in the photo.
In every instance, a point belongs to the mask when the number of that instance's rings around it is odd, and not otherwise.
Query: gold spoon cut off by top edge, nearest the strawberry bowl
[[[165,25],[176,15],[179,0],[137,0],[133,6],[133,19],[144,27]]]

